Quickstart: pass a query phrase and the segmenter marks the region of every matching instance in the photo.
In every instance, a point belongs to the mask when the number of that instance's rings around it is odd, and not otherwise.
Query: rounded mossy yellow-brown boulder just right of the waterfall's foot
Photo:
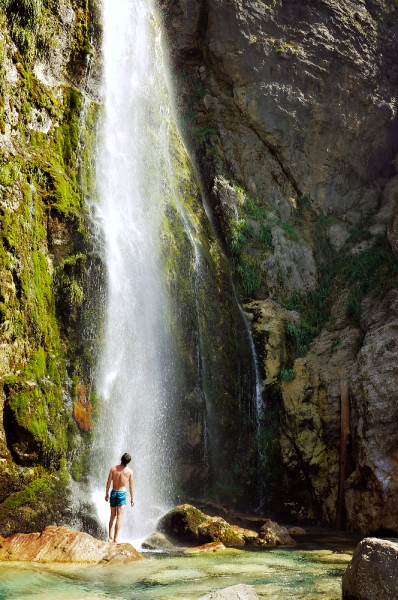
[[[166,536],[183,543],[195,543],[199,540],[199,526],[206,522],[206,517],[202,511],[190,504],[176,506],[166,513],[158,522],[157,530]],[[201,534],[201,538],[203,539]],[[214,541],[210,535],[204,542]]]

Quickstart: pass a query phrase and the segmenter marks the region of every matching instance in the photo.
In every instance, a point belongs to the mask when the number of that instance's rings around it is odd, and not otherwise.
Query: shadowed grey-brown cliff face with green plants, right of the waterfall
[[[268,505],[398,531],[394,2],[159,0],[176,111],[253,323]],[[253,302],[254,301],[254,302]]]

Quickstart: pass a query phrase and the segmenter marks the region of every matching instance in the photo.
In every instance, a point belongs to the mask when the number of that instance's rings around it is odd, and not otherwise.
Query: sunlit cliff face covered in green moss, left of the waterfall
[[[80,0],[0,4],[3,535],[61,518],[66,465],[79,479],[90,439],[90,298],[101,268],[85,199],[94,192],[98,106],[88,68],[98,17],[93,2]]]

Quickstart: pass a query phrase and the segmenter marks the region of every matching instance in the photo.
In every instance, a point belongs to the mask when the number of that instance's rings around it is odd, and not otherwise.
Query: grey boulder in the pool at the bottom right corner
[[[398,539],[358,544],[343,574],[343,600],[398,600]]]

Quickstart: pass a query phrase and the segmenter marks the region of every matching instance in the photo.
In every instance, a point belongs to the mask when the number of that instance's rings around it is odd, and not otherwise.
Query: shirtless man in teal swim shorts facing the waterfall
[[[112,467],[112,469],[109,471],[108,481],[106,483],[105,502],[108,502],[109,500],[109,488],[112,483],[110,501],[111,518],[109,519],[109,541],[114,542],[115,544],[118,543],[120,526],[122,524],[124,509],[126,508],[127,485],[130,489],[131,506],[134,506],[133,471],[127,466],[130,461],[130,454],[123,454],[120,460],[120,465]]]

